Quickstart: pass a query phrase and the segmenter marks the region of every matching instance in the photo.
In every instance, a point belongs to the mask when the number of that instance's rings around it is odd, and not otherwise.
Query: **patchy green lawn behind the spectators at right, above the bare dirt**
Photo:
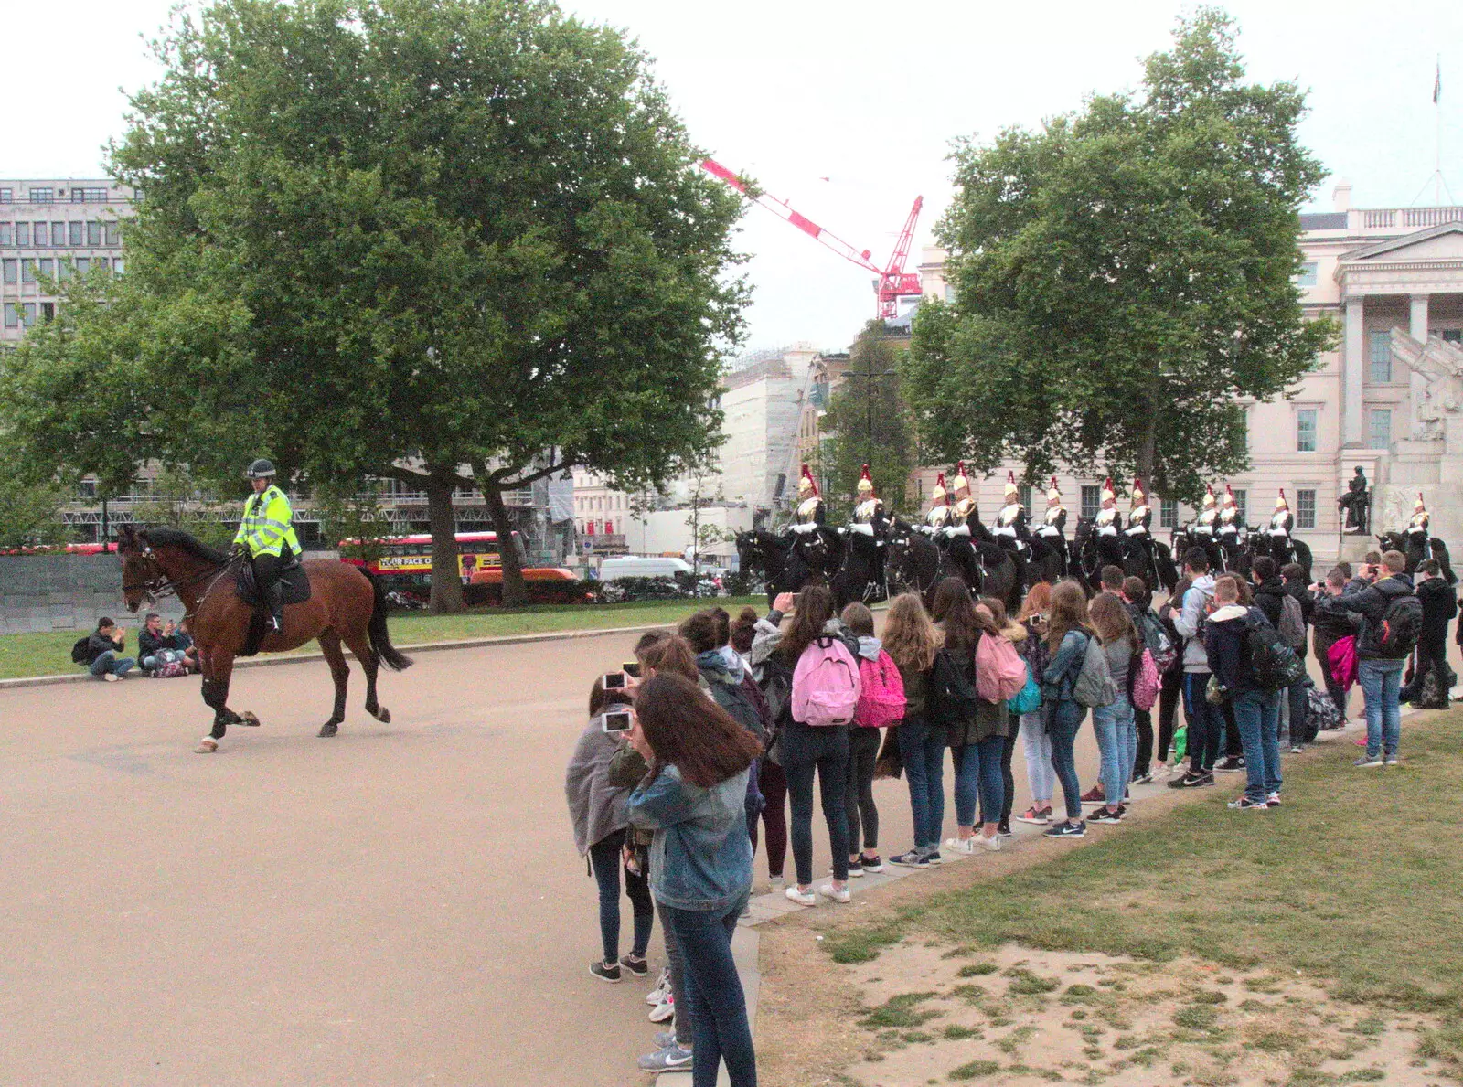
[[[1432,1055],[1463,1067],[1463,711],[1404,718],[1400,767],[1358,770],[1330,743],[1285,764],[1285,806],[1232,812],[1244,781],[1153,825],[830,932],[863,961],[910,932],[963,944],[1304,971],[1331,996],[1431,1012]]]

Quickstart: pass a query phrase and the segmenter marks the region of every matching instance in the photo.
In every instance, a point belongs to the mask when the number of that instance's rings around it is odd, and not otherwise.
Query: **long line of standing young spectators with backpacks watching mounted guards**
[[[847,903],[850,878],[885,865],[876,777],[903,775],[909,787],[914,840],[888,863],[928,869],[944,854],[998,851],[1011,835],[1018,736],[1033,799],[1015,818],[1058,840],[1121,822],[1129,784],[1157,772],[1195,789],[1213,786],[1216,770],[1244,771],[1229,806],[1279,806],[1282,734],[1301,751],[1318,729],[1339,727],[1355,679],[1368,723],[1358,764],[1394,762],[1406,660],[1416,651],[1413,691],[1431,672],[1447,698],[1444,642],[1457,606],[1429,563],[1415,591],[1402,554],[1374,557],[1356,576],[1339,566],[1306,585],[1299,566],[1277,571],[1265,557],[1249,579],[1216,578],[1192,549],[1157,610],[1140,578],[1107,568],[1091,600],[1077,581],[1043,582],[1014,617],[949,578],[929,610],[914,594],[892,600],[882,638],[868,607],[835,613],[828,588],[811,585],[762,617],[711,609],[642,635],[633,661],[595,679],[565,781],[600,889],[603,954],[590,973],[648,977],[661,920],[667,966],[647,1002],[669,1028],[639,1067],[689,1068],[696,1087],[711,1087],[724,1062],[733,1087],[756,1083],[732,938],[759,835],[768,876],[790,901]],[[1431,579],[1441,593],[1426,590]],[[1305,673],[1311,626],[1327,693]],[[1100,764],[1083,793],[1074,745],[1088,711]],[[942,840],[947,749],[955,827]],[[815,783],[832,851],[821,884]],[[622,887],[633,916],[623,955]]]

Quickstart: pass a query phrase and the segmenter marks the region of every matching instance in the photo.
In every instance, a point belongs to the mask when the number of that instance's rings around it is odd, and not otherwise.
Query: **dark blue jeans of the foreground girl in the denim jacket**
[[[834,857],[838,857],[837,851]],[[685,971],[686,1009],[691,1012],[696,1053],[692,1087],[715,1087],[723,1061],[732,1087],[756,1087],[756,1052],[746,1021],[746,995],[732,960],[732,933],[743,906],[745,897],[727,910],[677,910],[661,904]]]

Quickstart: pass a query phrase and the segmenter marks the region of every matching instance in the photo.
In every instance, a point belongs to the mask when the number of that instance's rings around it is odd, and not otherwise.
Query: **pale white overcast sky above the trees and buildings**
[[[157,78],[145,38],[171,0],[67,0],[0,64],[10,102],[0,177],[92,176],[124,92]],[[565,0],[629,29],[692,138],[882,263],[916,195],[916,252],[949,199],[955,136],[1036,126],[1084,95],[1132,88],[1165,48],[1172,0]],[[1463,202],[1463,3],[1233,0],[1249,78],[1308,89],[1302,139],[1359,206],[1432,203],[1434,66],[1443,51],[1443,174]],[[47,19],[47,15],[54,15]],[[50,25],[54,22],[54,25]],[[63,40],[66,48],[38,48]],[[20,42],[29,42],[22,45]],[[1331,184],[1312,206],[1330,209]],[[873,315],[869,274],[759,208],[740,247],[755,293],[748,348],[849,344]]]

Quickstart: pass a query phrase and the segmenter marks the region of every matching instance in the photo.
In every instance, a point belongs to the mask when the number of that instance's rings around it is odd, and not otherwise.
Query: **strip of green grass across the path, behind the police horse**
[[[698,601],[648,600],[632,604],[543,604],[516,609],[474,609],[454,616],[430,616],[420,612],[398,612],[391,617],[391,639],[398,647],[424,642],[449,642],[459,638],[493,638],[516,633],[546,633],[553,631],[598,631],[613,626],[657,626],[676,623],[692,612],[718,604],[729,612],[743,604],[765,607],[767,598],[733,597]],[[127,616],[119,620],[127,628],[129,650],[136,645],[136,631],[142,620]],[[0,635],[0,679],[20,676],[60,676],[76,672],[72,664],[72,644],[79,631],[45,631],[42,633]],[[315,642],[300,650],[316,650]]]

